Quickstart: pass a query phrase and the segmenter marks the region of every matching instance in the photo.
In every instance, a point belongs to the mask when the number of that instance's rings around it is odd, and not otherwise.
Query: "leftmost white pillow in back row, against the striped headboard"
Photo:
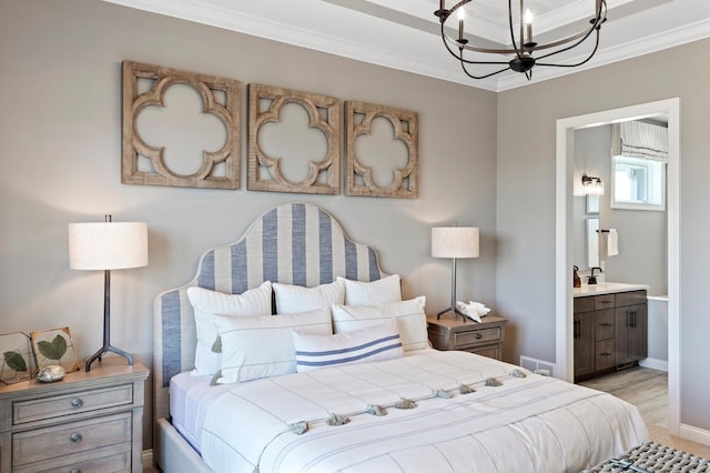
[[[189,288],[187,299],[195,313],[197,346],[193,374],[214,374],[222,365],[220,353],[212,351],[217,338],[213,315],[271,315],[271,282],[242,294],[224,294],[204,288]]]

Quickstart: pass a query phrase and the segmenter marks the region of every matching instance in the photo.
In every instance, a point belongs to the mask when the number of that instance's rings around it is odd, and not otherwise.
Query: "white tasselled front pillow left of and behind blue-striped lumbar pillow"
[[[222,339],[220,384],[295,373],[293,329],[333,333],[327,309],[288,315],[215,315],[214,322]]]

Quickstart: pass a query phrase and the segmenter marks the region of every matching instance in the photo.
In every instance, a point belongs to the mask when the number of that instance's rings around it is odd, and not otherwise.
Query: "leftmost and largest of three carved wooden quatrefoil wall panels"
[[[239,81],[123,61],[121,182],[239,189],[240,108]]]

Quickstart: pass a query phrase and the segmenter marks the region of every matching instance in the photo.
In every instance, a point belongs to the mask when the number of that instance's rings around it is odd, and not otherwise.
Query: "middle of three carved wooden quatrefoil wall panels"
[[[247,189],[337,194],[337,99],[272,85],[248,85]]]

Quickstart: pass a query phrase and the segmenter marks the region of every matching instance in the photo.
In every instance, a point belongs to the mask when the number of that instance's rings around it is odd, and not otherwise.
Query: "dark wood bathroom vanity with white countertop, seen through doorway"
[[[575,381],[635,366],[647,356],[647,285],[574,289]]]

